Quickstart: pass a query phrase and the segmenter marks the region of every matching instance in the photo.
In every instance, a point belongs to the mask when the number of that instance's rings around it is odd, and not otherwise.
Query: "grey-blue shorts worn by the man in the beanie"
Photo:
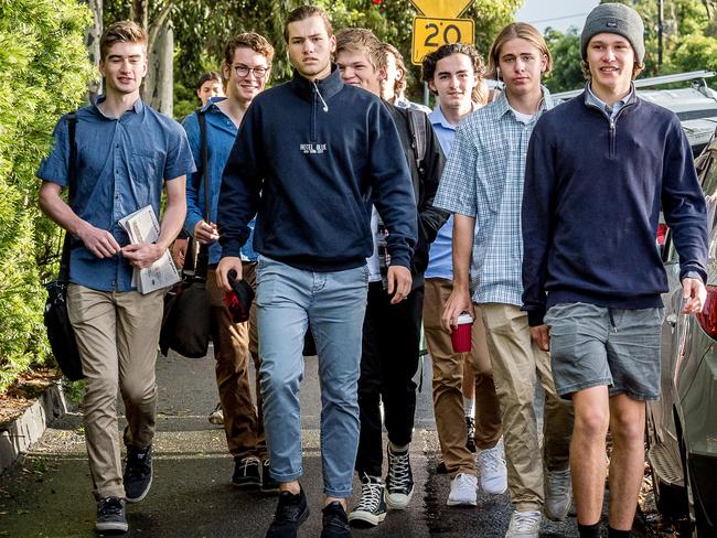
[[[564,398],[607,385],[610,396],[660,398],[660,334],[664,309],[607,309],[587,303],[556,304],[550,329],[555,388]]]

